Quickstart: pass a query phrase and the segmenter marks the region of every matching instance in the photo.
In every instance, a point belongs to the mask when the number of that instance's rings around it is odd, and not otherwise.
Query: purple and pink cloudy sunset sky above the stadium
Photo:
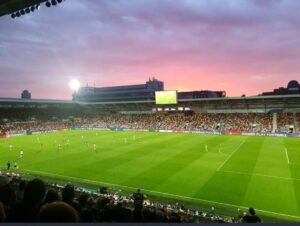
[[[0,97],[84,85],[257,95],[300,80],[298,0],[66,0],[0,18]]]

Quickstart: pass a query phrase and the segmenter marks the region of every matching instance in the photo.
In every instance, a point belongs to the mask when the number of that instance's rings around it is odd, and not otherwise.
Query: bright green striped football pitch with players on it
[[[0,139],[0,156],[2,169],[300,222],[298,138],[66,131]]]

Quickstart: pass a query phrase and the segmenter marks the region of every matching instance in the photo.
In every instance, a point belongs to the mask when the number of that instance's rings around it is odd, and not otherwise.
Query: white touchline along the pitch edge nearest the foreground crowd
[[[106,184],[106,185],[113,186],[113,187],[120,187],[120,188],[123,187],[123,188],[128,188],[128,189],[133,189],[133,190],[136,189],[135,187],[126,186],[126,185],[112,184],[112,183],[88,180],[88,179],[83,179],[83,178],[78,178],[78,177],[64,176],[64,175],[59,175],[59,174],[55,174],[55,173],[47,173],[47,172],[31,171],[31,170],[23,170],[23,171],[27,171],[29,173],[30,172],[38,173],[38,174],[41,174],[41,175],[44,174],[44,175],[49,175],[49,176],[56,176],[56,177],[60,177],[60,178],[69,178],[69,179],[73,179],[73,180],[82,180],[82,181],[86,181],[86,182],[89,182],[89,183]],[[161,194],[161,195],[165,195],[165,196],[169,196],[169,197],[177,197],[177,198],[181,198],[181,199],[195,200],[195,201],[218,204],[218,205],[221,205],[221,206],[230,206],[230,207],[235,207],[235,208],[240,208],[240,209],[245,209],[245,210],[247,210],[249,208],[249,207],[239,206],[239,205],[234,205],[234,204],[229,204],[229,203],[222,203],[222,202],[216,202],[216,201],[211,201],[211,200],[206,200],[206,199],[199,199],[199,198],[193,198],[193,197],[188,197],[188,196],[175,195],[175,194],[171,194],[171,193],[152,191],[152,190],[143,189],[143,188],[141,188],[141,189],[143,191],[146,191],[146,192],[149,192],[149,193],[152,193],[152,194]],[[292,218],[300,219],[300,216],[284,214],[284,213],[277,213],[277,212],[268,211],[268,210],[260,210],[260,209],[255,209],[255,210],[258,211],[258,212],[262,212],[262,213],[268,213],[268,214],[273,214],[273,215],[278,215],[278,216],[292,217]]]

